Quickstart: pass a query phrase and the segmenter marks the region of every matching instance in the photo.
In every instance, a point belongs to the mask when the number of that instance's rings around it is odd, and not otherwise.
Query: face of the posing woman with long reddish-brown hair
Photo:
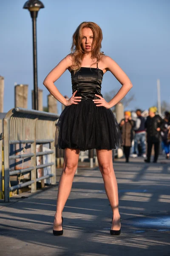
[[[91,52],[93,32],[90,28],[82,29],[82,47],[86,53]]]

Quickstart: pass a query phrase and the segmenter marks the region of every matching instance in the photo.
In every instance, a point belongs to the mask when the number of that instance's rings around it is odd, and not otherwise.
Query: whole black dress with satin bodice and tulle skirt
[[[82,96],[81,102],[62,111],[57,122],[55,145],[58,148],[108,149],[121,146],[122,137],[116,117],[111,109],[96,107],[93,99],[102,96],[103,71],[98,68],[81,67],[71,71],[72,91]],[[103,96],[102,96],[103,97]]]

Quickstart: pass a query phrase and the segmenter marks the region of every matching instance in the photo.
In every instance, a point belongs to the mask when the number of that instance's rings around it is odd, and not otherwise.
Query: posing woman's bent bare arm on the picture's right
[[[95,94],[97,97],[100,99],[95,99],[93,100],[94,103],[100,103],[100,105],[96,106],[104,106],[106,108],[112,108],[114,105],[116,105],[118,102],[120,102],[125,95],[128,93],[128,91],[133,87],[130,79],[128,76],[125,74],[125,72],[119,67],[119,65],[113,61],[112,58],[109,56],[103,56],[102,57],[102,63],[105,65],[105,70],[111,71],[113,76],[116,77],[116,79],[122,84],[122,87],[118,91],[118,93],[111,99],[110,102],[106,102],[103,100],[103,98],[97,94]]]

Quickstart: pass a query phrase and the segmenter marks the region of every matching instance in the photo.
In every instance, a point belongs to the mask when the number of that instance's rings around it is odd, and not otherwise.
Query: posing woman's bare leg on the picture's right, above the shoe
[[[106,195],[113,211],[112,230],[120,229],[119,199],[116,176],[113,169],[112,151],[107,149],[96,149],[99,169],[102,174]]]

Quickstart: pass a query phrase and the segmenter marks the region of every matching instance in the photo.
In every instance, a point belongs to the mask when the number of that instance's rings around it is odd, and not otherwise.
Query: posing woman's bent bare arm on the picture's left
[[[45,77],[43,84],[47,88],[47,90],[54,96],[55,99],[57,99],[59,102],[64,104],[65,106],[71,105],[71,104],[78,104],[80,101],[80,97],[74,97],[74,95],[71,97],[71,99],[67,100],[64,96],[59,92],[57,87],[55,86],[54,82],[59,79],[59,77],[65,72],[65,70],[68,69],[68,67],[71,66],[71,55],[67,55],[65,58],[62,59],[62,61],[59,62],[59,64],[54,67],[53,70],[48,74],[48,76]]]

